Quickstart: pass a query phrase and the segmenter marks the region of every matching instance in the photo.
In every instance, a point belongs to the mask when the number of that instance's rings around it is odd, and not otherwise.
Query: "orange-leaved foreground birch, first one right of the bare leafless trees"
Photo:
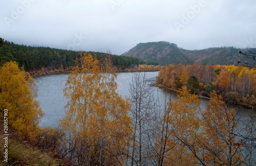
[[[197,151],[195,145],[197,133],[200,128],[198,96],[190,94],[183,86],[178,90],[178,100],[172,101],[172,110],[168,116],[169,125],[167,127],[168,137],[166,149],[169,151],[165,155],[163,165],[189,165],[197,163]],[[167,119],[166,119],[167,120]],[[196,155],[195,155],[196,154]]]

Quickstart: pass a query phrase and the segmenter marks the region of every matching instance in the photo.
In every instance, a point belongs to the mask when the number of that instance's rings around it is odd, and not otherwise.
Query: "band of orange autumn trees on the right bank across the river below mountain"
[[[217,74],[218,69],[220,73]],[[158,80],[168,87],[175,87],[175,77],[179,77],[183,85],[187,85],[187,79],[196,76],[200,83],[200,90],[204,87],[217,85],[218,92],[228,100],[229,92],[241,94],[239,101],[246,96],[256,96],[256,70],[245,66],[234,65],[173,65],[164,66],[160,69]],[[203,92],[202,92],[203,94]]]

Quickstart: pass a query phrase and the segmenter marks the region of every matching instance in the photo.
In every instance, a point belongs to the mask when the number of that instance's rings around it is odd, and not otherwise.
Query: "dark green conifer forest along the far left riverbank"
[[[90,52],[99,59],[104,57],[106,53]],[[49,67],[51,70],[64,68],[74,65],[74,60],[79,57],[77,51],[68,51],[60,49],[52,49],[42,46],[19,45],[0,38],[0,66],[5,62],[16,61],[18,66],[24,66],[25,70],[37,70],[41,67]],[[113,55],[113,65],[118,69],[125,69],[132,65],[145,64],[138,58]],[[154,64],[156,62],[147,62],[146,64]]]

